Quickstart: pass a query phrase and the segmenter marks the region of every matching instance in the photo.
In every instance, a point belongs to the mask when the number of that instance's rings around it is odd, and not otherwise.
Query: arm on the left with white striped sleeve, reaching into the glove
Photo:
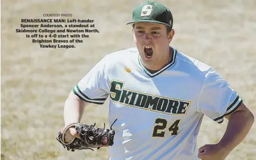
[[[106,57],[100,60],[70,91],[64,104],[65,125],[81,122],[85,107],[90,103],[103,104],[108,97]],[[70,137],[79,138],[75,129]]]

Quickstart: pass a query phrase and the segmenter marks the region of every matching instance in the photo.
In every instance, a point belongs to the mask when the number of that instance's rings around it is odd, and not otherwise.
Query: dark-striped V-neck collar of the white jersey
[[[139,54],[139,64],[140,66],[142,67],[142,69],[145,71],[146,74],[149,75],[149,77],[155,77],[156,75],[162,73],[163,71],[165,71],[166,69],[170,68],[170,66],[172,66],[175,62],[175,58],[176,58],[176,55],[177,55],[177,50],[174,49],[173,47],[171,47],[173,49],[173,56],[171,56],[171,60],[169,62],[169,64],[167,64],[165,67],[163,67],[162,69],[158,70],[156,73],[150,73],[144,65],[142,65],[142,62],[141,62],[141,58],[140,58],[140,54]]]

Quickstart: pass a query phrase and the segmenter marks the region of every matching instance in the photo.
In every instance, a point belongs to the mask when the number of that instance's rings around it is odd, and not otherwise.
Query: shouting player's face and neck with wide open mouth
[[[150,70],[159,70],[170,61],[169,44],[174,30],[167,35],[166,26],[157,23],[135,23],[133,40],[142,63]]]

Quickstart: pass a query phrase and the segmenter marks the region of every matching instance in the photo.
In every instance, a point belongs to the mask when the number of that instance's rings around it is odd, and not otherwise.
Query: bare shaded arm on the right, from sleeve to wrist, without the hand
[[[228,120],[228,125],[219,145],[224,149],[224,154],[228,155],[249,133],[254,123],[254,115],[241,103],[236,111],[224,117]]]

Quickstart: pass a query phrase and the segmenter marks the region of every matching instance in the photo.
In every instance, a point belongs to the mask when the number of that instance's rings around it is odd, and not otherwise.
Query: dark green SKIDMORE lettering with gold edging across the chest
[[[124,88],[124,82],[110,82],[110,98],[115,103],[129,107],[141,108],[169,115],[186,115],[191,101],[172,99],[165,96],[145,94]]]

